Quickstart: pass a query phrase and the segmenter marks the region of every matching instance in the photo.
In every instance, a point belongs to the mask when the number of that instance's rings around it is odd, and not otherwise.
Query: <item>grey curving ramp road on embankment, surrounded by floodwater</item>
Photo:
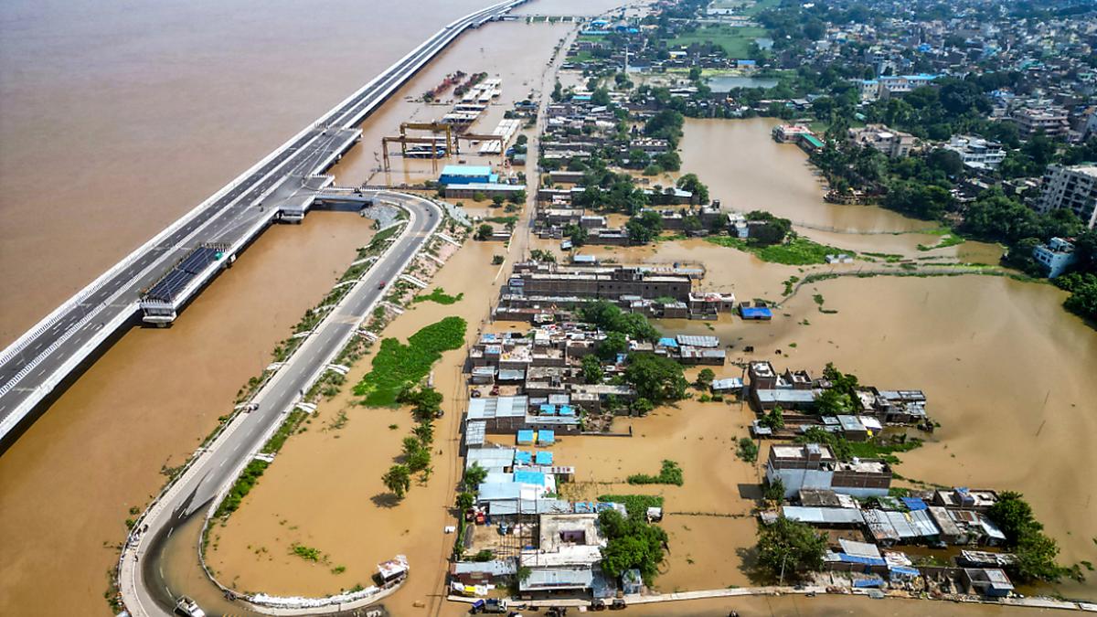
[[[382,282],[391,283],[397,278],[441,221],[440,209],[428,200],[403,193],[375,194],[385,201],[399,202],[411,212],[406,231],[259,392],[255,399],[259,408],[238,416],[145,515],[140,526],[147,525],[148,529],[131,538],[120,574],[123,597],[132,615],[170,614],[174,606],[170,592],[188,593],[167,590],[161,571],[167,566],[167,561],[161,560],[166,538],[192,515],[208,507],[235,481],[252,453],[301,399],[301,393],[310,386],[384,295],[386,290],[378,289]]]

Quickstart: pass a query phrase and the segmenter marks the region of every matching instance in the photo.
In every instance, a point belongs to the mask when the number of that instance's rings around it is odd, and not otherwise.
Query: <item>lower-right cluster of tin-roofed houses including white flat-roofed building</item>
[[[780,480],[787,505],[764,512],[762,523],[783,516],[825,531],[830,546],[825,569],[850,573],[853,586],[945,575],[961,581],[966,593],[1003,596],[1014,588],[1002,569],[1013,562],[1010,553],[965,549],[953,565],[926,566],[895,548],[1000,545],[1005,535],[986,516],[997,501],[994,491],[957,487],[895,496],[886,462],[841,461],[825,444],[773,446],[766,478]]]

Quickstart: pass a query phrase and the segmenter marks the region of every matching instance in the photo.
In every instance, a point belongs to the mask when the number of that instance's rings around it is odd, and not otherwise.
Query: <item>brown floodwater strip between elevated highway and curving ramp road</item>
[[[348,213],[268,229],[171,328],[131,330],[31,425],[0,457],[0,614],[108,614],[129,508],[231,411],[372,234]]]

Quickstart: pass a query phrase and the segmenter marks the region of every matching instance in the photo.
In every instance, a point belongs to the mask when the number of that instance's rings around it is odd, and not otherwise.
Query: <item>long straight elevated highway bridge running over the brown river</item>
[[[0,440],[115,330],[132,323],[144,290],[186,251],[204,243],[231,243],[238,239],[233,234],[245,233],[270,216],[269,210],[253,202],[287,177],[321,172],[332,148],[343,145],[339,130],[358,125],[464,30],[522,1],[494,4],[439,31],[0,352]]]

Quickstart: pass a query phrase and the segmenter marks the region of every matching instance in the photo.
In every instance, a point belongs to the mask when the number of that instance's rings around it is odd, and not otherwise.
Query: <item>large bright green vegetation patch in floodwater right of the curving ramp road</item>
[[[407,345],[395,338],[382,340],[372,369],[354,386],[354,394],[364,396],[362,403],[366,406],[395,405],[404,386],[427,377],[442,351],[461,347],[466,326],[461,317],[446,317],[408,337]]]

